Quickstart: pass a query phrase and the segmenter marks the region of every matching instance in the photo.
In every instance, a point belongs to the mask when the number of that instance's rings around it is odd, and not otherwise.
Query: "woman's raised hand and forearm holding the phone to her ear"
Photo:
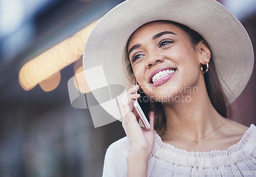
[[[127,174],[131,176],[145,176],[147,164],[152,149],[154,147],[154,112],[150,113],[150,129],[139,125],[139,116],[134,110],[133,100],[140,97],[134,94],[139,90],[139,85],[133,86],[126,92],[122,98],[122,107],[125,116],[123,117],[122,126],[130,142],[131,149],[127,156]]]

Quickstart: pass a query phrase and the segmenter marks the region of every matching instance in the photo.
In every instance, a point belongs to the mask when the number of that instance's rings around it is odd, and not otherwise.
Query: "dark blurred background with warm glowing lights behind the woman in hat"
[[[124,131],[118,121],[94,128],[89,109],[72,107],[68,80],[82,71],[97,20],[121,2],[0,0],[0,176],[102,175],[105,151]],[[219,2],[256,53],[256,1]],[[233,119],[247,126],[256,123],[255,81],[254,69],[233,103]]]

